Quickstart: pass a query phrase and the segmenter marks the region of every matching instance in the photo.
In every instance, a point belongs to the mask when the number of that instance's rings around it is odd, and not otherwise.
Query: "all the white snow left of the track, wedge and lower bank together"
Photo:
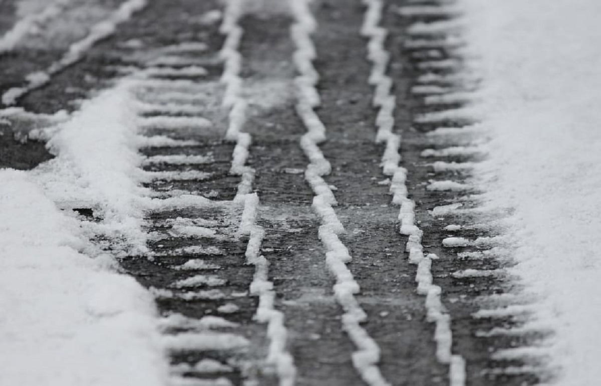
[[[100,234],[118,253],[145,248],[150,201],[129,87],[45,130],[55,159],[0,170],[2,385],[167,384],[153,296],[89,242]],[[79,221],[81,208],[96,218]]]

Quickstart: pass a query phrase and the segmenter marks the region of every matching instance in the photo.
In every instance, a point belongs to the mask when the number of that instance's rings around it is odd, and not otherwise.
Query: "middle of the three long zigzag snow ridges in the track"
[[[301,138],[301,147],[310,161],[305,171],[305,179],[315,194],[313,208],[322,219],[319,238],[328,251],[326,253],[328,268],[336,277],[334,294],[338,304],[344,309],[343,329],[357,348],[357,351],[352,354],[353,366],[368,385],[389,385],[377,367],[380,360],[380,348],[360,325],[367,319],[367,314],[354,296],[360,291],[359,284],[345,264],[352,257],[338,238],[338,235],[344,232],[344,227],[332,207],[337,205],[337,201],[332,189],[322,178],[330,173],[331,165],[317,146],[320,142],[325,141],[326,129],[313,110],[319,106],[320,97],[315,87],[319,80],[319,74],[312,63],[316,58],[316,50],[311,40],[311,33],[316,29],[317,23],[311,14],[309,3],[310,0],[291,0],[289,2],[296,21],[290,30],[291,38],[296,45],[293,61],[299,72],[299,76],[295,79],[297,86],[296,112],[307,127],[307,133]]]

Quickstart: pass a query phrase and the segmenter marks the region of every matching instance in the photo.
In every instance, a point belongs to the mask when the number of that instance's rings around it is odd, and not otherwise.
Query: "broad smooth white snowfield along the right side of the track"
[[[601,379],[601,2],[460,0],[475,105],[492,131],[488,204],[515,209],[511,271],[546,296],[558,384]],[[491,179],[490,177],[494,177]],[[543,315],[547,316],[543,316]]]

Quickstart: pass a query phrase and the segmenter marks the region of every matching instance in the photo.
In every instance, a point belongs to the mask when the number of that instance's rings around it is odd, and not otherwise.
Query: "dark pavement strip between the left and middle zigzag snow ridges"
[[[340,306],[331,296],[332,279],[317,238],[313,192],[303,177],[307,161],[299,140],[305,129],[294,113],[291,22],[285,2],[241,20],[248,37],[240,51],[248,58],[242,73],[249,102],[245,130],[253,136],[249,164],[256,169],[259,222],[266,230],[262,253],[270,262],[276,307],[290,331],[297,384],[357,384],[353,346],[341,329]]]

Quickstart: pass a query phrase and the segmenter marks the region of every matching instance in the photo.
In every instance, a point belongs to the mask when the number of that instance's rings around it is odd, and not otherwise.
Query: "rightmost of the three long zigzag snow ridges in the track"
[[[401,161],[398,152],[401,137],[392,133],[394,126],[394,96],[390,94],[391,78],[386,76],[386,64],[389,54],[384,47],[386,30],[379,27],[382,18],[382,0],[362,0],[367,5],[361,34],[369,37],[368,60],[373,64],[370,84],[375,87],[374,105],[380,110],[376,118],[376,142],[385,142],[386,148],[382,156],[382,170],[386,176],[392,176],[390,194],[392,202],[400,206],[398,218],[401,222],[400,232],[409,236],[406,251],[409,261],[417,263],[417,291],[426,296],[427,320],[436,324],[434,340],[436,342],[436,358],[439,363],[449,365],[449,378],[452,386],[465,385],[465,360],[460,355],[453,355],[451,346],[451,317],[445,312],[441,301],[441,287],[432,284],[432,260],[438,259],[434,254],[424,256],[421,236],[423,232],[415,224],[415,202],[407,197],[407,170],[398,164]],[[402,8],[401,8],[402,9]],[[386,90],[385,92],[382,90]]]

